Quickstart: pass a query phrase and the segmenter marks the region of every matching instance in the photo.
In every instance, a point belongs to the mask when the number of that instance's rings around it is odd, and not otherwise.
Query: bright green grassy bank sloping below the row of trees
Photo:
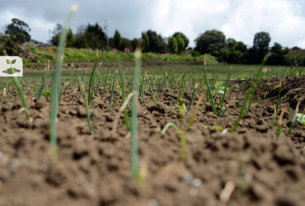
[[[23,68],[26,69],[43,69],[47,60],[50,60],[51,66],[56,61],[56,47],[34,47],[25,46],[24,52],[22,53]],[[64,53],[64,64],[67,63],[88,63],[95,59],[96,51],[88,49],[75,49],[66,48]],[[104,62],[108,63],[111,60],[114,63],[121,62],[124,66],[131,67],[133,65],[132,58],[134,58],[132,52],[106,52],[104,51]],[[192,57],[190,55],[176,55],[176,54],[153,54],[143,53],[142,64],[145,67],[155,67],[163,63],[167,65],[177,64],[198,64],[203,62],[204,56]],[[99,51],[99,61],[102,60],[102,51]],[[215,64],[218,63],[217,58],[211,55],[207,55],[207,63]]]

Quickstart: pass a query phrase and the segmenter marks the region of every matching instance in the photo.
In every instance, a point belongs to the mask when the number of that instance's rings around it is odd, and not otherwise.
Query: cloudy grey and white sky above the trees
[[[63,24],[74,0],[10,0],[0,7],[0,32],[11,19],[27,23],[32,39],[46,42],[49,29]],[[9,2],[9,3],[8,3]],[[71,22],[74,32],[80,25],[107,19],[108,36],[114,31],[129,39],[139,38],[142,31],[152,29],[163,37],[176,31],[184,33],[194,47],[194,40],[206,30],[222,31],[251,47],[254,34],[269,32],[270,46],[305,49],[304,0],[82,0]]]

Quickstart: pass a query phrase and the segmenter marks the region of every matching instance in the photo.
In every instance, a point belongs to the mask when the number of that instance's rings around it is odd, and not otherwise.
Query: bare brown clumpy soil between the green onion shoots
[[[281,80],[281,96],[305,85],[304,76],[266,78],[255,97],[263,99],[265,92],[266,99],[278,95],[274,85]],[[232,96],[240,96],[250,83],[251,79],[235,87]],[[138,146],[142,181],[137,182],[130,169],[130,134],[123,114],[117,114],[120,99],[109,109],[110,95],[106,94],[102,101],[102,91],[93,96],[96,117],[94,135],[90,135],[84,101],[74,87],[67,87],[58,107],[59,156],[52,164],[48,141],[52,99],[42,97],[34,103],[32,91],[24,88],[24,92],[32,121],[20,110],[22,104],[15,98],[16,91],[11,92],[11,105],[0,97],[1,206],[304,205],[305,127],[294,127],[287,138],[290,122],[286,111],[276,138],[277,127],[272,127],[270,120],[277,98],[266,101],[260,113],[251,108],[234,133],[229,131],[239,115],[234,102],[218,118],[204,99],[205,107],[197,110],[186,131],[184,161],[179,158],[180,134],[170,127],[161,135],[161,129],[168,122],[186,128],[194,108],[181,120],[177,107],[172,106],[177,92],[173,97],[164,89],[156,95],[156,105],[149,94],[146,103],[140,98]],[[292,114],[304,94],[304,89],[294,91],[283,101],[289,102]],[[186,105],[190,96],[185,92]],[[304,102],[300,111],[303,108]],[[118,127],[113,131],[117,118]]]

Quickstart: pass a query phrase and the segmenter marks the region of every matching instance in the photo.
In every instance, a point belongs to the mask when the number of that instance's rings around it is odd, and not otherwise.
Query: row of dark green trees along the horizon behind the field
[[[60,24],[52,30],[52,39],[49,44],[58,45],[60,34],[63,27]],[[12,23],[6,27],[6,34],[11,38],[1,37],[2,47],[9,49],[16,43],[22,43],[30,40],[30,28],[21,20],[12,19]],[[6,38],[6,39],[5,39]],[[134,51],[137,47],[142,52],[152,53],[171,53],[183,55],[186,53],[196,57],[205,53],[216,56],[223,63],[238,64],[260,64],[263,57],[271,52],[267,64],[290,65],[295,61],[291,56],[286,55],[288,48],[283,49],[279,43],[274,43],[270,48],[270,34],[267,32],[258,32],[254,35],[253,46],[247,48],[243,42],[238,42],[233,38],[226,39],[221,31],[209,30],[195,39],[195,48],[188,47],[189,39],[181,32],[175,32],[172,36],[163,37],[156,31],[143,31],[141,38],[132,40],[123,38],[118,30],[113,37],[108,39],[109,47],[119,51]],[[107,47],[107,38],[104,30],[99,23],[81,25],[74,34],[72,29],[68,29],[66,47],[104,49]],[[296,49],[295,47],[294,49]],[[10,52],[10,50],[9,50]]]

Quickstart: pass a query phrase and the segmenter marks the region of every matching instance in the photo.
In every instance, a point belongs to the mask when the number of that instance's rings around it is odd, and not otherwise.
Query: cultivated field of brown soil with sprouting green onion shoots
[[[303,205],[302,67],[137,60],[0,79],[0,205]]]

